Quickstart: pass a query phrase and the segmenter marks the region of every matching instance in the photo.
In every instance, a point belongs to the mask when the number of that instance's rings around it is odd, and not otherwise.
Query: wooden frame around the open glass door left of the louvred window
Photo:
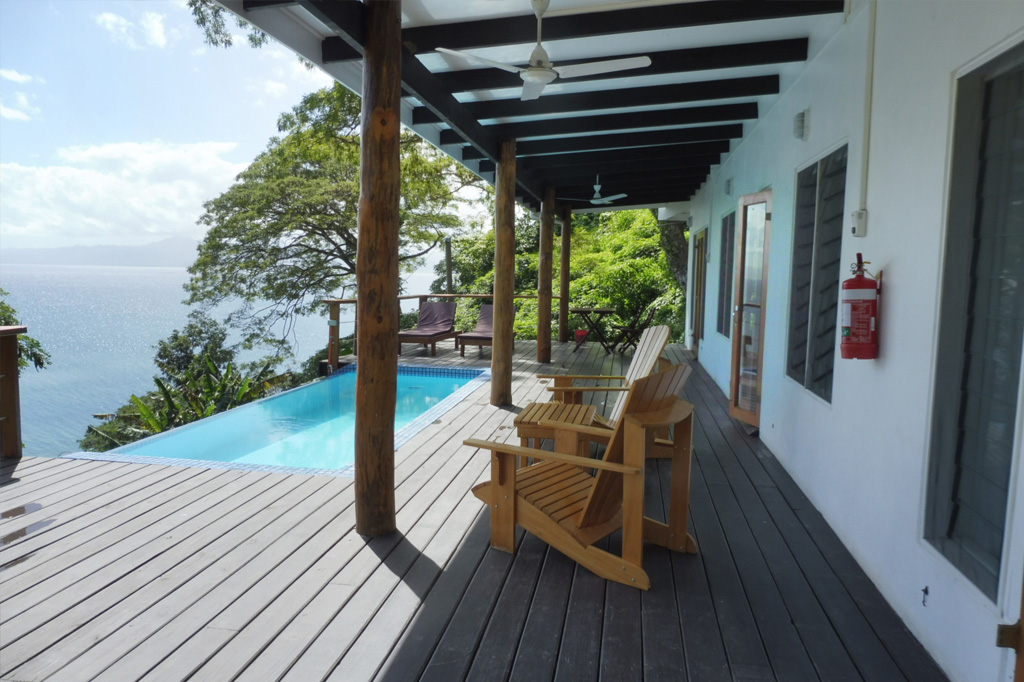
[[[766,300],[768,298],[768,245],[771,242],[771,201],[772,190],[763,189],[753,195],[744,195],[739,198],[736,221],[735,237],[735,258],[733,260],[735,268],[735,279],[732,287],[732,366],[729,370],[729,415],[735,419],[751,424],[761,426],[761,385],[764,378],[764,349],[765,349],[765,314]],[[742,352],[742,315],[739,314],[743,301],[743,280],[746,269],[745,249],[746,243],[746,207],[757,204],[765,204],[765,237],[764,251],[762,254],[761,266],[761,325],[758,330],[758,378],[757,395],[758,406],[754,411],[743,410],[736,403],[739,399],[739,357]]]

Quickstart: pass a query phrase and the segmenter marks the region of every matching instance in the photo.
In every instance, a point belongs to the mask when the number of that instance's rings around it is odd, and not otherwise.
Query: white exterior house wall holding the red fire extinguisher
[[[1020,612],[1020,452],[997,604],[922,537],[955,80],[1024,41],[1024,2],[878,4],[868,226],[866,238],[855,239],[849,214],[861,194],[870,9],[855,2],[847,25],[771,112],[762,112],[691,202],[692,229],[711,228],[699,358],[728,393],[731,341],[716,331],[721,219],[742,195],[771,188],[761,437],[952,680],[1009,681],[1013,655],[994,640],[996,625],[1016,621]],[[801,141],[793,136],[793,117],[805,109],[810,135]],[[881,358],[843,360],[837,349],[829,404],[785,375],[790,274],[797,171],[844,143],[849,157],[842,262],[862,252],[872,271],[885,270],[885,291]],[[729,197],[722,191],[727,178],[733,179]],[[692,249],[692,239],[690,244]],[[843,279],[847,272],[844,266]],[[1024,399],[1019,410],[1024,414]],[[1022,436],[1019,416],[1018,441]]]

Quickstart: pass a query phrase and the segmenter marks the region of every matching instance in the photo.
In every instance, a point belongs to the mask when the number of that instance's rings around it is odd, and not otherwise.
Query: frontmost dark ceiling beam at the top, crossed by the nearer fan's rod
[[[844,11],[844,0],[772,0],[771,2],[691,2],[606,12],[549,16],[545,41],[609,36],[639,31],[755,22]],[[495,45],[528,45],[537,40],[532,14],[406,29],[402,40],[417,52],[438,47],[473,49]],[[529,54],[527,49],[526,54]]]

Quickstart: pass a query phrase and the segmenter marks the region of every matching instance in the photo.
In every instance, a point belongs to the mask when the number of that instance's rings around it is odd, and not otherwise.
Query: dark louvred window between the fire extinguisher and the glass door
[[[786,374],[825,400],[836,360],[846,152],[844,145],[797,174]]]

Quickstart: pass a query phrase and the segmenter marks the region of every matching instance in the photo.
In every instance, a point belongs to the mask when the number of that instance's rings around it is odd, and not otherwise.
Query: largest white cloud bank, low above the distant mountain
[[[60,165],[0,165],[0,233],[19,243],[138,244],[194,239],[203,203],[245,168],[233,142],[162,141],[66,147]]]

